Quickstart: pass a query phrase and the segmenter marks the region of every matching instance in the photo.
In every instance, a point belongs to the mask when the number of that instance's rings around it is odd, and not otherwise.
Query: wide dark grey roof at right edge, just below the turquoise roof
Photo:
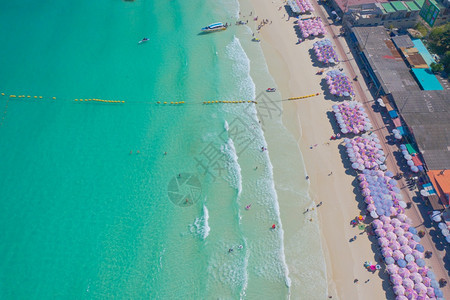
[[[450,91],[392,92],[430,170],[450,170]],[[450,173],[450,171],[449,171]]]

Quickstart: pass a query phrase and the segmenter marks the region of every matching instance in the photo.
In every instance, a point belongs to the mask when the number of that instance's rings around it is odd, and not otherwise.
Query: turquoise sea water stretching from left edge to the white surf
[[[287,298],[238,9],[0,3],[2,299]]]

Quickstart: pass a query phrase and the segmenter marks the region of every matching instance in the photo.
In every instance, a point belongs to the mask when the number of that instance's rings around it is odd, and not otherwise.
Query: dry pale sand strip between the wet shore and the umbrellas
[[[333,299],[361,298],[363,295],[366,299],[389,298],[392,295],[389,289],[383,287],[383,275],[370,274],[362,266],[366,260],[375,261],[372,242],[359,235],[359,239],[355,242],[348,242],[359,233],[357,229],[349,226],[349,221],[359,215],[358,201],[355,200],[360,199],[358,193],[355,195],[353,191],[355,177],[347,174],[342,163],[338,147],[340,141],[329,141],[334,132],[327,118],[327,112],[334,102],[324,99],[321,89],[322,77],[315,74],[320,68],[313,66],[309,55],[309,49],[317,39],[306,40],[296,45],[297,35],[293,28],[296,19],[291,18],[288,21],[283,18],[287,13],[282,1],[261,3],[250,0],[250,3],[253,6],[252,11],[259,16],[258,20],[273,21],[272,24],[264,26],[259,34],[255,33],[255,36],[261,38],[261,48],[270,75],[274,78],[282,98],[321,93],[320,96],[308,100],[283,102],[282,125],[295,138],[303,156],[307,175],[310,176],[308,192],[312,203],[324,203],[314,212],[314,218],[319,220],[321,249],[326,262],[324,276],[327,280],[327,293]],[[283,6],[281,11],[277,9],[279,6]],[[243,11],[247,7],[241,5],[241,8]],[[253,20],[252,22],[256,23]],[[326,37],[330,38],[329,33]],[[274,142],[270,134],[267,136],[267,142],[269,145]],[[276,169],[277,164],[273,165]],[[328,176],[330,172],[332,176]],[[274,173],[274,179],[277,181],[279,178],[276,176],[276,170]],[[297,173],[306,175],[303,174],[303,170],[297,170]],[[301,177],[300,180],[305,181],[305,177]],[[279,200],[286,199],[283,191],[277,189],[277,193]],[[289,227],[299,225],[292,220],[295,215],[290,211],[291,208],[292,205],[280,203],[281,219],[286,231],[295,230]],[[308,230],[307,227],[304,229]],[[291,241],[288,236],[284,242],[286,251],[289,251]],[[302,295],[302,287],[295,285],[295,277],[299,275],[292,270],[301,266],[298,261],[289,258],[288,253],[286,263],[293,282],[291,295],[298,298]],[[357,278],[359,283],[355,284],[353,281]],[[369,281],[363,283],[366,280]]]

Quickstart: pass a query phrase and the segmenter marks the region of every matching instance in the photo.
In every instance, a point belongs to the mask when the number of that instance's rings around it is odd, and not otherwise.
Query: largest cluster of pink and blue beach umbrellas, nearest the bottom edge
[[[425,263],[417,229],[404,214],[372,222],[396,299],[442,299],[436,276]]]

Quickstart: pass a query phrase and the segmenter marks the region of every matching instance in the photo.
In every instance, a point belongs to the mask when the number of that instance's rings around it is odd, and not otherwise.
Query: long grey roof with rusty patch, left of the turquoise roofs
[[[420,90],[383,26],[353,27],[352,32],[386,94]]]

